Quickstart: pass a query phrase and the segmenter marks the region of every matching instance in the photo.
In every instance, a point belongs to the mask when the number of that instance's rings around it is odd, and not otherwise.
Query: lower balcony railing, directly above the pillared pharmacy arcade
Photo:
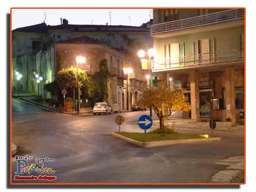
[[[244,58],[244,50],[212,52],[177,58],[166,58],[152,61],[152,71],[171,70],[181,67],[204,66]]]

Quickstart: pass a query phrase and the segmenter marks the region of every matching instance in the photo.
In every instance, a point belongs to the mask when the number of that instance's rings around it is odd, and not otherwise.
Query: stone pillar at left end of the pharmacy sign
[[[191,98],[191,119],[199,119],[199,91],[198,91],[198,71],[190,71],[190,98]]]

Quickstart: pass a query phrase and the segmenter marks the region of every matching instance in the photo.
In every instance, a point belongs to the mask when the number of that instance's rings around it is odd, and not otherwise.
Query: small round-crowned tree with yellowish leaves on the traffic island
[[[152,107],[160,120],[160,129],[164,128],[164,118],[176,111],[189,111],[190,104],[186,101],[183,90],[171,90],[162,82],[157,87],[145,89],[139,103],[146,107]]]

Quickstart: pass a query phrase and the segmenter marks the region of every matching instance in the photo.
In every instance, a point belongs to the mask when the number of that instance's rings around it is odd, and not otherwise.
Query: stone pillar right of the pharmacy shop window
[[[235,111],[235,70],[234,67],[225,67],[225,104],[226,118],[231,119],[231,126],[236,126],[236,111]]]

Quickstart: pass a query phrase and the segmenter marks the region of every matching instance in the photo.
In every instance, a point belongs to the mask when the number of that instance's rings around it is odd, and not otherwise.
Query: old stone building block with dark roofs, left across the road
[[[53,82],[59,70],[74,64],[75,56],[82,54],[87,58],[87,64],[80,67],[91,75],[99,70],[101,59],[108,60],[111,73],[108,102],[120,102],[121,109],[130,109],[132,104],[137,102],[144,86],[145,75],[141,70],[137,51],[153,46],[149,28],[151,23],[152,20],[139,27],[108,24],[69,25],[68,21],[63,19],[58,26],[42,23],[15,29],[12,60],[30,66],[31,69],[22,71],[23,77],[30,78],[22,78],[22,82],[34,87],[34,91],[23,88],[24,92],[37,93],[39,90],[39,95],[49,97],[43,90],[44,85]],[[23,41],[23,38],[26,41]],[[25,44],[27,46],[24,46]],[[128,67],[132,69],[130,78],[124,74]],[[36,83],[33,74],[42,76],[43,81]]]

